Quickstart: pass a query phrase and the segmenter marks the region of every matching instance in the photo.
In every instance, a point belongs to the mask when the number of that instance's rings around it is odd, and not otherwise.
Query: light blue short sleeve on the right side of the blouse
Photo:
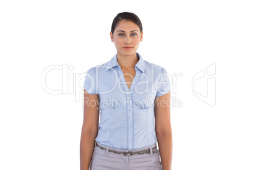
[[[157,97],[165,95],[168,91],[171,90],[171,85],[169,81],[168,74],[166,69],[161,69],[161,74],[158,82],[158,89],[157,89]]]

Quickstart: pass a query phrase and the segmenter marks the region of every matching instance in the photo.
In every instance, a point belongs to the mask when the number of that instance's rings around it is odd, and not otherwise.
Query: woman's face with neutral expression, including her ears
[[[121,20],[117,23],[114,34],[110,32],[111,41],[115,42],[117,53],[120,55],[134,55],[139,48],[139,42],[142,41],[143,31],[140,32],[136,23]],[[125,47],[131,48],[125,48]]]

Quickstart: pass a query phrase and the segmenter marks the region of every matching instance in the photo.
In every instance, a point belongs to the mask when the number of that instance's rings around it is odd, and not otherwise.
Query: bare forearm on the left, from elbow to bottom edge
[[[95,146],[97,133],[82,130],[80,141],[80,170],[88,170]]]

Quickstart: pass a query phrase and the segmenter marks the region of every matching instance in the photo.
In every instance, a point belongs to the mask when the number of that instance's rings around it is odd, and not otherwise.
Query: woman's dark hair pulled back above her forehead
[[[141,20],[139,20],[139,17],[134,13],[122,12],[122,13],[118,13],[118,15],[115,16],[112,22],[112,26],[111,26],[112,34],[114,34],[114,30],[115,30],[115,27],[117,27],[117,23],[122,20],[127,20],[127,21],[136,23],[139,26],[139,30],[142,32],[142,24],[141,24]]]

